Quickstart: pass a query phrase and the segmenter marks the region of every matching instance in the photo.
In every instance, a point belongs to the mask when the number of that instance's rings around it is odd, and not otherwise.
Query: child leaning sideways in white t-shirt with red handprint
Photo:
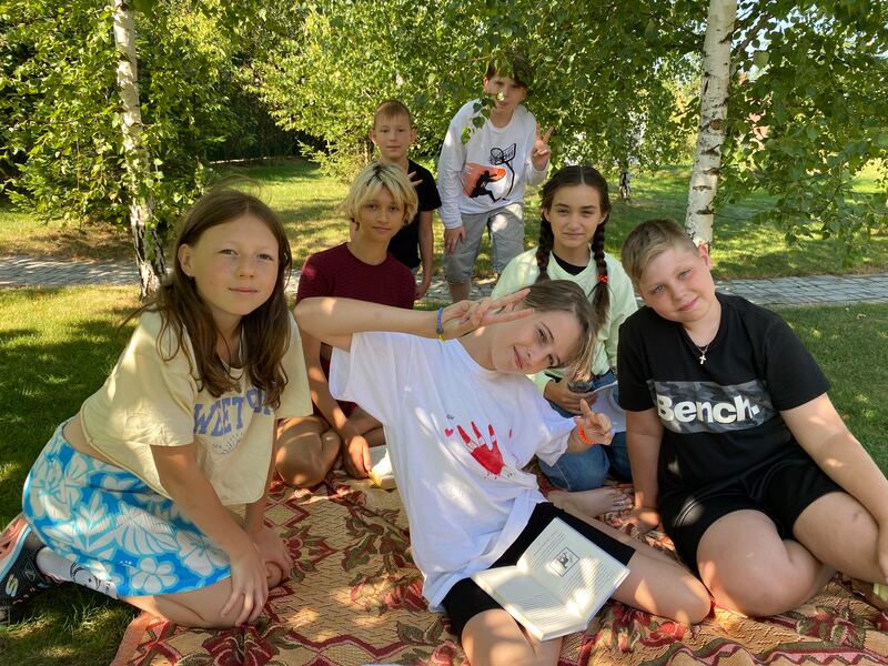
[[[706,616],[709,597],[687,571],[604,524],[593,527],[589,516],[555,508],[524,471],[534,455],[552,462],[609,441],[606,417],[585,403],[581,416],[558,415],[526,376],[546,367],[581,380],[588,373],[594,316],[579,286],[543,282],[436,313],[306,299],[295,315],[334,347],[333,395],[383,424],[423,594],[450,614],[474,666],[557,660],[561,639],[528,637],[470,578],[514,564],[556,516],[628,563],[614,598],[684,623]]]

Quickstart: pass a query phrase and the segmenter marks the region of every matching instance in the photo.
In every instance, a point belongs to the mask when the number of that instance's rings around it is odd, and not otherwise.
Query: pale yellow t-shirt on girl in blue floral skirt
[[[263,405],[264,392],[241,370],[238,387],[213,397],[199,390],[189,364],[185,334],[175,349],[168,330],[158,350],[161,317],[145,312],[104,385],[80,408],[83,434],[100,453],[168,496],[151,446],[196,444],[195,456],[222,504],[255,502],[265,490],[275,420],[312,412],[305,361],[296,323],[290,317],[290,346],[282,365],[287,384],[276,410]],[[195,366],[196,367],[196,366]]]

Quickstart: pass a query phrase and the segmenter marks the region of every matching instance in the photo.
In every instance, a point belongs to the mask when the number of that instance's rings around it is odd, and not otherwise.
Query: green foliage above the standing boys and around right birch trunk
[[[647,170],[693,144],[707,6],[316,0],[256,60],[255,89],[284,127],[319,138],[311,154],[327,173],[349,178],[370,154],[381,100],[404,101],[417,152],[435,154],[453,113],[480,97],[488,60],[517,51],[533,70],[527,107],[555,125],[556,165]],[[722,205],[764,191],[757,221],[790,242],[839,238],[846,261],[885,228],[886,179],[866,199],[851,180],[888,151],[887,12],[871,0],[740,1]]]

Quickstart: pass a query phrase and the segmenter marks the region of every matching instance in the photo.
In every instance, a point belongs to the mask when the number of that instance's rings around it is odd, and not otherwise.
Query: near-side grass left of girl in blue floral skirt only
[[[132,287],[0,291],[0,523],[21,509],[24,477],[56,426],[104,382],[137,305]],[[65,585],[0,629],[3,664],[108,664],[135,613]]]

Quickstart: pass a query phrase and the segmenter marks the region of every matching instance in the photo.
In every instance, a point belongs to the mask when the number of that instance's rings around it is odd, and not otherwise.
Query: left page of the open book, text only
[[[477,572],[472,578],[537,638],[563,636],[585,626],[583,617],[568,613],[557,597],[516,566]]]

